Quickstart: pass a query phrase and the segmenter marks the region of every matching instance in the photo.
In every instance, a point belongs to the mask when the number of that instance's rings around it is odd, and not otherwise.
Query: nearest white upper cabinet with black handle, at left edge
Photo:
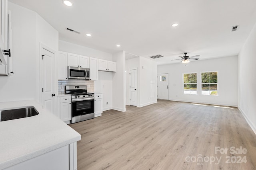
[[[1,0],[0,15],[0,65],[6,65],[8,56],[3,54],[3,50],[8,51],[8,0]]]

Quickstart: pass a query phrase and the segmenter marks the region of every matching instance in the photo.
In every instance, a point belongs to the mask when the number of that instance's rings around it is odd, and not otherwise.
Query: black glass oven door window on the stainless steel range
[[[72,117],[94,113],[94,100],[72,102]]]

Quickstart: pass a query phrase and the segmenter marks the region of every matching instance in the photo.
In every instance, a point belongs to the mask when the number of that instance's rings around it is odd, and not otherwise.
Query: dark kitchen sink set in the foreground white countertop
[[[0,109],[0,121],[31,117],[38,114],[38,111],[33,106],[15,107],[4,110]]]

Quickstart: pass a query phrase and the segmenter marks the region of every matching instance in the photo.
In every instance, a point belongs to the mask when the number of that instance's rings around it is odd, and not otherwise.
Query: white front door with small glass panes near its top
[[[157,98],[168,100],[169,83],[168,74],[157,74]]]

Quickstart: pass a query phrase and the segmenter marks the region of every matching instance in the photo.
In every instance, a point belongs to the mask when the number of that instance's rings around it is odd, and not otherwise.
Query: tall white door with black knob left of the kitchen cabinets
[[[41,48],[42,55],[42,98],[41,104],[44,109],[54,113],[54,53]]]

